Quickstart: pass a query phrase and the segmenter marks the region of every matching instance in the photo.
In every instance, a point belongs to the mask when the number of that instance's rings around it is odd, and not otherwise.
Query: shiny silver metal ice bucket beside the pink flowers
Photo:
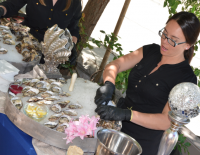
[[[142,148],[132,137],[112,129],[97,132],[95,155],[140,155]]]

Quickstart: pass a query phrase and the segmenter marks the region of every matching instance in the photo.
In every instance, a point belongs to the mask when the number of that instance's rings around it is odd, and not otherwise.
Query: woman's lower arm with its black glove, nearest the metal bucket
[[[135,124],[153,130],[166,130],[170,127],[168,112],[169,104],[165,105],[162,113],[149,114],[113,106],[101,105],[95,109],[101,119],[110,121],[131,121]]]

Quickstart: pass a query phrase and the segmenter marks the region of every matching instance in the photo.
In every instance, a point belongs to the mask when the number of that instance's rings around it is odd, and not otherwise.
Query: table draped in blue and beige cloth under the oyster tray
[[[32,72],[29,72],[27,74],[19,74],[15,78],[23,78],[23,77],[31,78]],[[32,138],[31,136],[27,135],[26,133],[18,129],[4,114],[4,104],[6,98],[5,96],[6,93],[0,91],[0,137],[1,137],[0,154],[2,155],[13,155],[13,154],[65,155],[66,154],[67,150],[45,144],[35,138]],[[9,124],[10,128],[8,128],[8,125],[5,126],[5,122],[6,124]],[[11,129],[11,132],[9,132],[8,129]],[[22,144],[24,146],[22,146]],[[84,153],[84,155],[94,155],[94,153]]]

